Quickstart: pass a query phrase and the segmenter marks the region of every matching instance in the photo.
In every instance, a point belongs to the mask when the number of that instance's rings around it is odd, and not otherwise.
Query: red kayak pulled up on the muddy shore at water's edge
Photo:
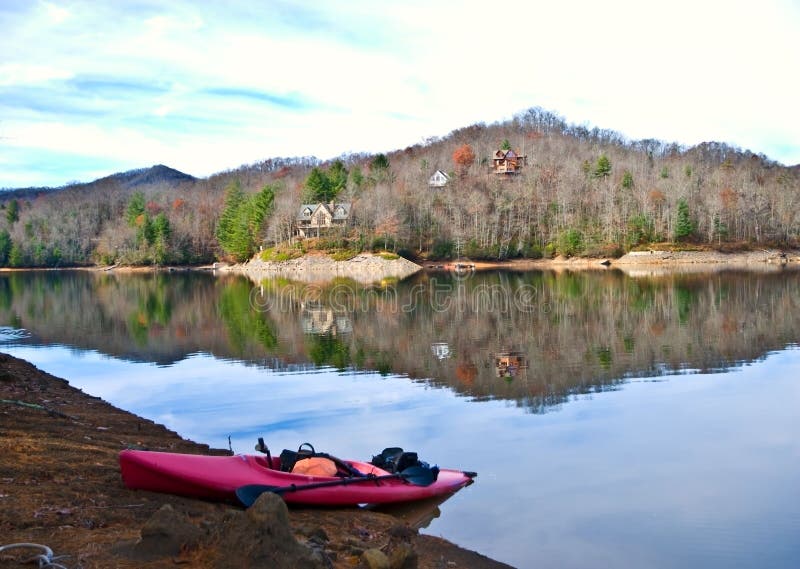
[[[442,496],[466,486],[474,473],[439,469],[425,485],[410,483],[403,473],[392,474],[368,462],[343,461],[362,478],[307,476],[280,470],[280,459],[239,454],[205,456],[140,450],[119,455],[122,479],[128,488],[166,492],[211,500],[235,500],[236,490],[263,485],[286,502],[319,506],[388,504]],[[412,477],[413,480],[413,477]],[[320,484],[321,483],[321,484]],[[302,486],[313,485],[304,489]]]

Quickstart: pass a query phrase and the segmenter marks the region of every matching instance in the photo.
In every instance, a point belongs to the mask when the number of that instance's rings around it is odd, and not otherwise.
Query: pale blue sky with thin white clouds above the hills
[[[0,0],[0,30],[0,188],[389,152],[531,107],[800,163],[800,0]]]

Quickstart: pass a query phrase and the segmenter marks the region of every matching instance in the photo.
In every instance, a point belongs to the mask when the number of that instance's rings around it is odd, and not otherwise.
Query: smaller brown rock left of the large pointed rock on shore
[[[196,547],[203,532],[184,514],[164,504],[147,520],[141,536],[130,554],[136,559],[145,560],[180,555],[184,549]]]

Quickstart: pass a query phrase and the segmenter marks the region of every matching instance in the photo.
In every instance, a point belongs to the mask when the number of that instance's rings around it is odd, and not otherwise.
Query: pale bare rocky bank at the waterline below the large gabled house
[[[408,259],[385,259],[380,255],[361,253],[347,261],[334,261],[327,255],[306,255],[289,261],[261,261],[253,259],[243,265],[220,270],[240,272],[254,280],[285,277],[301,282],[326,282],[346,277],[369,284],[385,278],[404,279],[422,267]]]

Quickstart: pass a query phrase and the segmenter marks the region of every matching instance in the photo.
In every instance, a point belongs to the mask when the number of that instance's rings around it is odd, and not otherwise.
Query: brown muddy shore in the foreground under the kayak
[[[0,546],[47,545],[55,555],[67,556],[58,563],[68,569],[279,566],[267,565],[266,557],[242,558],[248,555],[244,550],[249,543],[268,540],[263,532],[245,539],[244,546],[240,534],[231,537],[232,528],[242,527],[237,524],[245,523],[251,512],[232,504],[125,488],[117,455],[128,447],[226,452],[184,440],[28,362],[0,354]],[[282,501],[267,507],[285,509]],[[375,550],[385,553],[393,563],[388,566],[395,567],[508,567],[419,534],[415,525],[436,515],[436,505],[400,515],[356,508],[290,508],[289,537],[284,541],[293,535],[303,551],[310,548],[310,567],[369,566],[367,558]],[[471,522],[480,520],[465,520]],[[159,523],[167,529],[158,529]],[[143,528],[149,528],[144,539]],[[170,535],[153,538],[160,531]],[[267,548],[277,558],[283,555],[283,544],[260,547],[262,553]],[[32,550],[0,552],[0,568],[36,566],[23,564],[31,555]],[[373,566],[380,566],[380,559],[371,558],[377,563]]]

